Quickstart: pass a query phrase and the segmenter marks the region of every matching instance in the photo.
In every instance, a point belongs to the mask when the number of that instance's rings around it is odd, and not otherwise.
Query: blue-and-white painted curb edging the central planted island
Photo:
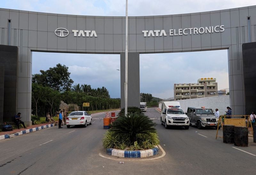
[[[143,158],[155,156],[158,154],[158,147],[155,146],[153,149],[140,150],[140,151],[125,151],[121,149],[108,148],[107,154],[116,157],[124,158]]]

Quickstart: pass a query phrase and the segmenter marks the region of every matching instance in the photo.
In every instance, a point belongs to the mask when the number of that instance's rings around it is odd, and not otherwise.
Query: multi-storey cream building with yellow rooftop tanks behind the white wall
[[[200,78],[197,83],[174,84],[174,100],[218,96],[216,78]]]

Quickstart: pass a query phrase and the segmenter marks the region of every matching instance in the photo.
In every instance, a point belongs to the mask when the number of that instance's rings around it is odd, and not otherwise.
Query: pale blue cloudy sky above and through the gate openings
[[[125,0],[0,0],[0,8],[48,13],[125,16]],[[128,0],[129,16],[169,15],[214,11],[256,5],[255,0]],[[106,87],[120,98],[120,56],[33,52],[32,73],[61,63],[69,67],[75,83]],[[163,64],[164,63],[164,64]],[[168,77],[163,81],[162,76]],[[217,78],[218,89],[228,87],[227,50],[140,54],[140,92],[173,97],[174,83],[193,83],[202,77]]]

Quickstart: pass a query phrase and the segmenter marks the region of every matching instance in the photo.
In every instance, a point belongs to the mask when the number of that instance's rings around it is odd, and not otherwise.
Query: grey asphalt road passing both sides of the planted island
[[[154,160],[107,159],[101,140],[105,115],[93,116],[92,125],[48,128],[0,141],[1,174],[255,174],[256,143],[235,147],[215,139],[215,129],[165,129],[160,113],[145,113],[158,125],[166,155]],[[222,130],[220,130],[220,134]],[[201,135],[200,135],[201,134]],[[233,148],[235,147],[235,148]],[[236,149],[238,148],[238,149]],[[243,152],[242,150],[246,151]],[[249,154],[250,153],[250,154]],[[162,152],[160,153],[162,154]],[[105,156],[107,156],[105,154]],[[108,156],[109,157],[109,156]],[[111,156],[110,156],[111,157]],[[142,161],[143,160],[143,161]]]

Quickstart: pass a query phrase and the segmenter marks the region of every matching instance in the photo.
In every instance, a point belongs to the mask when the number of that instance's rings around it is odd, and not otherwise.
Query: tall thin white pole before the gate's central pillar
[[[124,115],[127,116],[128,107],[128,0],[126,0],[126,13],[125,13],[125,82],[124,82]]]

